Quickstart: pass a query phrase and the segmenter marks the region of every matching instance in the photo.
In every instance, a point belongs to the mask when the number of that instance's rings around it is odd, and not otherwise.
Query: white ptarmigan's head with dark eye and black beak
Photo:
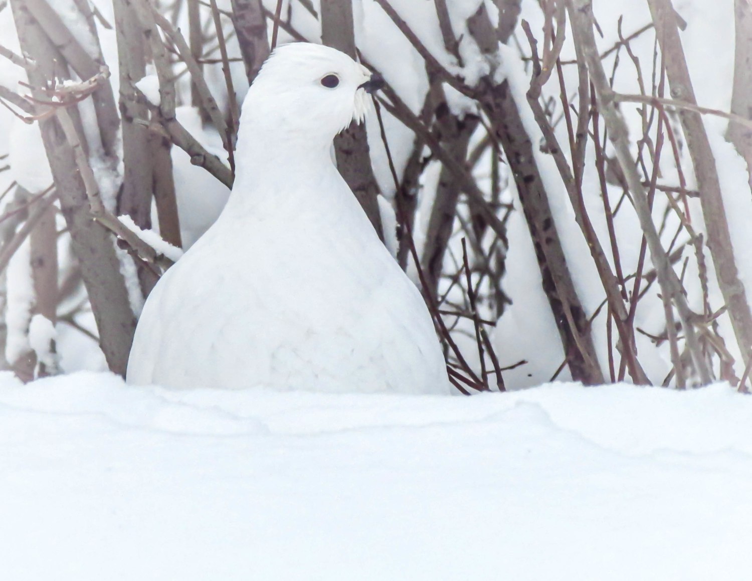
[[[339,50],[320,44],[277,47],[259,71],[243,104],[254,125],[332,139],[368,110],[368,93],[384,80]],[[241,121],[241,125],[243,122]]]

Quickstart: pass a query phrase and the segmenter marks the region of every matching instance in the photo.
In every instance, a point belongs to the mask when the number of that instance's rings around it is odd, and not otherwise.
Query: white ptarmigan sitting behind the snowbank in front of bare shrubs
[[[420,292],[332,162],[369,81],[329,47],[272,53],[243,104],[229,201],[151,292],[129,383],[451,392]]]

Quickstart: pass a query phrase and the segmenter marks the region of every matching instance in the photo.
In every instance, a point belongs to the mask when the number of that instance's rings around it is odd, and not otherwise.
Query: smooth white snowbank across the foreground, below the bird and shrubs
[[[3,579],[748,579],[752,398],[0,375]]]

